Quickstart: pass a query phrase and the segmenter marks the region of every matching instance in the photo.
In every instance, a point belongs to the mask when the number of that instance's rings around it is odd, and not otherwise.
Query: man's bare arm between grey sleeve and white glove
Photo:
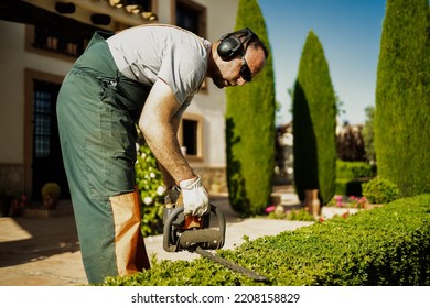
[[[157,80],[143,106],[139,128],[162,165],[161,168],[164,168],[163,177],[168,173],[175,183],[195,177],[178,141],[178,127],[182,116],[180,113],[180,105],[171,88],[164,81]],[[169,176],[164,179],[171,182]]]

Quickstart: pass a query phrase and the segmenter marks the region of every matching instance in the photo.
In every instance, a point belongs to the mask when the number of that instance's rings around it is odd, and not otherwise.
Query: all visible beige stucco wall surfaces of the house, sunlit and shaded
[[[234,29],[238,0],[194,1],[207,8],[206,38],[215,41]],[[169,23],[172,0],[159,0],[157,7],[159,22]],[[24,72],[30,68],[64,76],[72,63],[25,52],[25,25],[21,23],[0,20],[0,164],[23,164]],[[193,164],[219,167],[225,166],[225,91],[207,81],[207,91],[196,95],[187,110],[203,117],[204,123],[204,161]]]

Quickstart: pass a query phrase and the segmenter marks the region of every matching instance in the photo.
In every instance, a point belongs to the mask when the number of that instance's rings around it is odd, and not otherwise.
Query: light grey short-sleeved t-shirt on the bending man
[[[149,86],[162,79],[180,105],[190,103],[206,75],[211,43],[173,25],[130,28],[107,43],[125,76]]]

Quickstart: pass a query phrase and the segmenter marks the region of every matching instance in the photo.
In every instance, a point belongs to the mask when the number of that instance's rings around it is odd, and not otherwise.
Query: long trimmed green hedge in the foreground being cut
[[[266,285],[430,285],[430,195],[398,199],[218,254],[269,277]],[[153,261],[150,271],[105,285],[265,285],[204,257]]]

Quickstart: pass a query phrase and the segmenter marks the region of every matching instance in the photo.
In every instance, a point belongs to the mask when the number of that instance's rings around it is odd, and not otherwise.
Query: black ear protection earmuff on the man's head
[[[240,38],[245,36],[244,40]],[[244,52],[244,45],[252,37],[257,36],[249,28],[227,33],[221,37],[217,53],[223,61],[230,61]]]

